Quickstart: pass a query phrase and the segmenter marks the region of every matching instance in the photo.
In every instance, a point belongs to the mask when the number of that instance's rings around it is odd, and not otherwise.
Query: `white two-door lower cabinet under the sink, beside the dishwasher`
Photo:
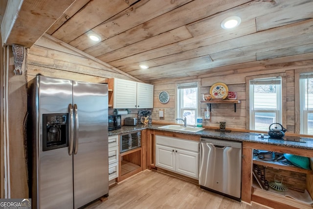
[[[156,135],[156,166],[199,179],[199,141]]]

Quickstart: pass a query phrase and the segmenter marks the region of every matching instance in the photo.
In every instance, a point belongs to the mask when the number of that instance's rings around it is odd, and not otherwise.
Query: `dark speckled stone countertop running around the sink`
[[[139,131],[143,129],[153,129],[153,130],[164,130],[167,132],[185,133],[189,135],[196,135],[196,136],[206,137],[206,138],[225,139],[225,140],[231,140],[231,141],[250,141],[250,142],[256,142],[256,143],[264,143],[264,144],[272,144],[272,145],[280,145],[280,146],[313,150],[313,138],[299,138],[299,139],[302,139],[302,141],[304,142],[297,142],[297,141],[286,141],[282,139],[264,139],[264,138],[262,139],[262,138],[259,138],[258,133],[246,133],[246,132],[235,132],[235,131],[220,132],[220,131],[215,131],[214,129],[204,129],[197,133],[192,133],[192,132],[160,129],[158,128],[160,126],[163,126],[163,125],[152,124],[148,126],[144,126],[144,125],[122,126],[121,129],[118,129],[115,131],[109,131],[109,136],[129,133],[133,131]]]

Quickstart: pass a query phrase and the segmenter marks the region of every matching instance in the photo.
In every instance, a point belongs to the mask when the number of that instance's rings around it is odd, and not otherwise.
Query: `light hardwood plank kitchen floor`
[[[268,209],[240,203],[176,177],[145,170],[110,188],[104,202],[88,209]]]

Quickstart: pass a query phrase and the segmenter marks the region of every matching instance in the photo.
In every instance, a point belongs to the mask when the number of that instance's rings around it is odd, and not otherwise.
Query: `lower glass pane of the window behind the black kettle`
[[[254,114],[254,129],[259,131],[268,131],[270,124],[275,123],[275,113],[258,113]]]

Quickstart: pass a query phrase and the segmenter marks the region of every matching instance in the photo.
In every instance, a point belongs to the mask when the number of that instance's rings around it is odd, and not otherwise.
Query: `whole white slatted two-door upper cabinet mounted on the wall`
[[[109,79],[110,82],[114,109],[153,108],[153,85],[119,78]]]

